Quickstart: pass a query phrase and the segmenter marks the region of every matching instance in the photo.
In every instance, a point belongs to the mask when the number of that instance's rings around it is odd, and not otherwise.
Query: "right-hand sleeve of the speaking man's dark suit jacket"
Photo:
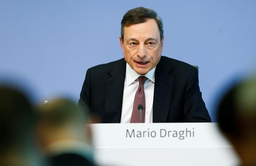
[[[199,88],[198,70],[192,67],[184,97],[184,122],[211,122]]]

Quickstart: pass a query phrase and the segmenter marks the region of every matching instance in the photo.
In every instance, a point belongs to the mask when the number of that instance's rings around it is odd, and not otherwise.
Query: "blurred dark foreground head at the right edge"
[[[220,100],[218,125],[242,164],[256,165],[256,77],[233,86]]]

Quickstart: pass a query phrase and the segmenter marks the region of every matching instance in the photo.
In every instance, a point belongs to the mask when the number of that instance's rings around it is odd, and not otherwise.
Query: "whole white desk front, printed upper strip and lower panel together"
[[[91,124],[95,160],[113,166],[234,166],[216,123]]]

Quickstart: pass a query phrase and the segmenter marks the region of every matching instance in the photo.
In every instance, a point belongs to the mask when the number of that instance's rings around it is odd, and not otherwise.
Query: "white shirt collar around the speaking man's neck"
[[[126,82],[127,86],[131,85],[138,77],[143,76],[136,73],[128,63],[126,63]],[[155,67],[144,75],[153,83],[155,82]]]

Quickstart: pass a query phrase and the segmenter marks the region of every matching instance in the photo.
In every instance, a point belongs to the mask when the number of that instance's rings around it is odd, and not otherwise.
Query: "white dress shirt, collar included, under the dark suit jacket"
[[[130,65],[126,63],[121,123],[130,123],[132,112],[133,112],[134,97],[139,87],[138,78],[140,76],[142,75],[136,73],[130,67]],[[144,76],[148,78],[144,83],[144,91],[145,91],[145,98],[146,98],[145,123],[152,123],[153,122],[154,86],[155,86],[155,68],[153,68]]]

